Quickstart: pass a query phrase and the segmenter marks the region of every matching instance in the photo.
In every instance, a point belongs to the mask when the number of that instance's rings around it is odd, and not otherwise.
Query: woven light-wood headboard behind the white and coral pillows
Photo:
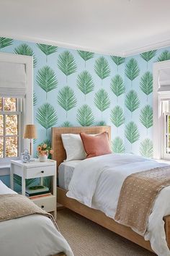
[[[61,134],[73,133],[79,134],[85,132],[87,135],[95,135],[100,132],[108,132],[109,142],[111,140],[111,127],[53,127],[52,128],[52,148],[54,150],[53,160],[57,161],[57,168],[66,159],[66,150],[63,148],[63,142],[61,140]]]

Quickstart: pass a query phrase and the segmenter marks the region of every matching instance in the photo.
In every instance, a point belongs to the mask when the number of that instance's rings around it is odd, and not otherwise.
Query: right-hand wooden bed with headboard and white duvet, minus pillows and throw
[[[57,165],[59,166],[58,202],[66,208],[89,218],[91,221],[99,223],[105,228],[130,239],[132,242],[152,252],[156,252],[159,256],[169,256],[169,186],[161,189],[161,192],[156,198],[152,213],[148,219],[145,236],[137,234],[130,227],[117,223],[113,219],[115,216],[115,205],[117,205],[117,195],[119,194],[121,184],[119,177],[130,175],[135,171],[146,171],[157,166],[161,167],[164,166],[164,163],[157,163],[151,159],[137,157],[132,154],[115,154],[112,156],[112,159],[110,159],[109,155],[102,155],[97,156],[97,160],[95,161],[89,158],[83,161],[63,162],[66,159],[66,150],[63,148],[62,134],[79,134],[80,132],[84,132],[89,135],[97,135],[105,131],[108,132],[110,140],[110,127],[52,128],[53,159],[57,161]],[[93,161],[94,163],[91,163]],[[112,170],[107,164],[109,162],[113,162]],[[115,163],[116,166],[114,166]],[[88,168],[86,168],[87,166]],[[96,167],[98,169],[102,168],[102,171],[100,170],[98,173]],[[105,167],[107,167],[107,171],[105,171]],[[107,176],[107,172],[109,172],[108,168],[110,173],[112,173],[111,176],[114,177],[112,182],[110,182]],[[96,182],[95,186],[93,182]]]

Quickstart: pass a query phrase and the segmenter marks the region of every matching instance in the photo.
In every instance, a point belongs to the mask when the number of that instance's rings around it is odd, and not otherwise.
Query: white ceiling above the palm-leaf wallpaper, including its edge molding
[[[0,0],[0,36],[128,56],[170,46],[170,0]]]

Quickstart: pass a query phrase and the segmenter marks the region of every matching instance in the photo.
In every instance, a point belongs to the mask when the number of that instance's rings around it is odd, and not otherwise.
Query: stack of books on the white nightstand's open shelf
[[[29,197],[30,199],[35,199],[39,197],[46,197],[48,195],[51,195],[49,192],[49,188],[41,185],[27,187],[25,189],[25,195]]]

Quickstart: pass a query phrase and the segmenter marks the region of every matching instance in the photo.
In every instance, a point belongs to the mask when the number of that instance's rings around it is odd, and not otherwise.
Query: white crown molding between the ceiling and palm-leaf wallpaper
[[[151,51],[151,50],[156,50],[158,48],[165,48],[170,46],[170,40],[164,40],[156,43],[151,43],[146,46],[141,46],[133,49],[129,49],[128,51],[112,51],[108,52],[107,50],[97,50],[94,48],[86,47],[86,46],[79,46],[73,43],[65,43],[61,41],[54,41],[54,40],[47,40],[44,38],[37,38],[37,37],[29,37],[26,35],[12,35],[10,33],[1,33],[1,37],[4,38],[12,38],[14,40],[23,40],[27,41],[30,43],[44,43],[44,44],[49,44],[52,46],[58,46],[61,48],[69,48],[73,50],[81,50],[81,51],[91,51],[94,52],[95,54],[104,54],[104,55],[115,55],[115,56],[122,56],[122,57],[128,57],[128,56],[133,56],[137,54],[141,54],[145,51]]]

